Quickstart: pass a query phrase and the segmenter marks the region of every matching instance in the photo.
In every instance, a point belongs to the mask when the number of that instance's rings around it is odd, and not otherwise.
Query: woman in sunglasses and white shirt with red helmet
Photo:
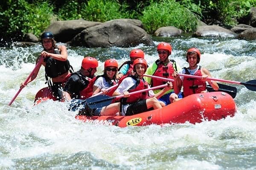
[[[115,59],[108,59],[104,63],[104,73],[96,77],[96,81],[93,84],[93,95],[96,95],[100,91],[105,95],[112,96],[114,88],[107,91],[109,87],[118,83],[116,79],[116,72],[118,63]]]

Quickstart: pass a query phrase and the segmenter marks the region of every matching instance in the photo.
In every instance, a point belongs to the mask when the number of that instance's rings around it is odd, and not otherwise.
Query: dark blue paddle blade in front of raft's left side
[[[96,109],[110,105],[114,98],[116,97],[110,97],[108,95],[96,95],[95,97],[85,99],[85,102],[90,109]]]

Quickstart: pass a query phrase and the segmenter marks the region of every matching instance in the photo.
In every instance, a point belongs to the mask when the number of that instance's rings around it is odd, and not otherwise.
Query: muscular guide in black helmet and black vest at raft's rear
[[[64,45],[56,46],[54,36],[51,32],[44,32],[41,35],[41,43],[44,50],[37,58],[36,63],[38,63],[40,58],[44,58],[42,65],[45,67],[46,81],[52,90],[52,94],[61,101],[63,98],[62,87],[70,76],[71,69],[73,70],[70,62],[67,60],[67,48]],[[28,83],[37,77],[39,69],[40,67],[35,70]],[[52,79],[52,82],[48,77]],[[24,86],[26,84],[20,85],[20,87]]]

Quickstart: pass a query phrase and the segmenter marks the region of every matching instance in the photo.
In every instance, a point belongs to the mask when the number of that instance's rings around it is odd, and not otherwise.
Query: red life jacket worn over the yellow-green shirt
[[[170,60],[167,66],[164,66],[163,62],[161,62],[159,59],[155,63],[157,64],[157,69],[153,74],[154,76],[173,79],[172,73],[177,71],[176,62],[174,60]],[[151,86],[160,86],[166,83],[167,81],[164,80],[159,80],[156,78],[151,79]]]

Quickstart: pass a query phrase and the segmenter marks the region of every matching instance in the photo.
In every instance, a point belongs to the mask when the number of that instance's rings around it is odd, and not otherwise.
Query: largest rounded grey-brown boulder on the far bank
[[[154,45],[144,29],[125,21],[112,20],[85,29],[71,40],[70,45],[105,48],[137,46],[140,43]]]

